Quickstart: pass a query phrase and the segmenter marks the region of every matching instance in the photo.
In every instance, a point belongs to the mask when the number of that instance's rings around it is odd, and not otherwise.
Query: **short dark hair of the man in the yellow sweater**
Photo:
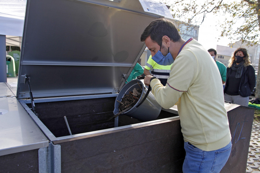
[[[168,36],[173,42],[181,40],[178,29],[170,20],[165,18],[155,19],[144,29],[141,42],[144,42],[150,36],[153,41],[160,45],[164,35]]]

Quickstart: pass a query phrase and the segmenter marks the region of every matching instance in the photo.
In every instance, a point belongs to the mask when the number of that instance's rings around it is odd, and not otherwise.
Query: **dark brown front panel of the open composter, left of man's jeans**
[[[179,119],[130,127],[60,145],[62,172],[180,172],[180,162],[185,157]]]

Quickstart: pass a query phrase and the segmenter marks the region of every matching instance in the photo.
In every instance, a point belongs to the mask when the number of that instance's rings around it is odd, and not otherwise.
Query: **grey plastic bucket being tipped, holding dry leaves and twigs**
[[[124,97],[125,94],[129,94],[129,91],[133,91],[134,88],[140,88],[140,86],[142,87],[142,94],[141,94],[140,99],[135,104],[135,106],[133,106],[130,110],[128,110],[122,114],[133,117],[140,121],[155,120],[155,119],[157,119],[158,115],[161,112],[161,106],[157,103],[157,101],[154,98],[154,95],[151,92],[149,92],[148,96],[143,101],[143,103],[140,104],[148,91],[148,89],[144,86],[144,84],[142,83],[141,80],[135,79],[135,80],[131,80],[130,82],[128,82],[121,89],[118,96],[116,97],[116,100],[121,101],[122,97]],[[115,102],[114,114],[117,114],[119,112],[118,101]]]

